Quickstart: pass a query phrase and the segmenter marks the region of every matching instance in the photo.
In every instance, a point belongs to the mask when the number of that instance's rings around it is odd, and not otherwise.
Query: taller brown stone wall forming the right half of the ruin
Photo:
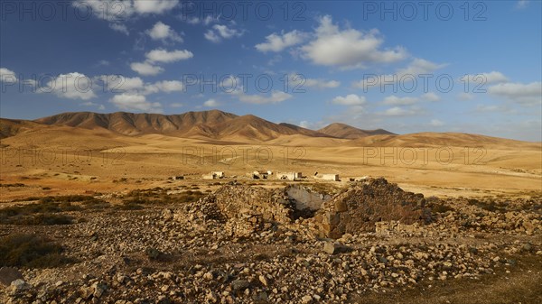
[[[397,220],[404,224],[430,220],[422,194],[403,191],[387,180],[368,180],[344,190],[314,216],[321,237],[375,231],[375,223]]]

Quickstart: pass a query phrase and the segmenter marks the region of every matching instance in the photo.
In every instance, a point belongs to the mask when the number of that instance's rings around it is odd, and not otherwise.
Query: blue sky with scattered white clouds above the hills
[[[218,108],[542,141],[539,1],[248,4],[4,1],[0,115]]]

